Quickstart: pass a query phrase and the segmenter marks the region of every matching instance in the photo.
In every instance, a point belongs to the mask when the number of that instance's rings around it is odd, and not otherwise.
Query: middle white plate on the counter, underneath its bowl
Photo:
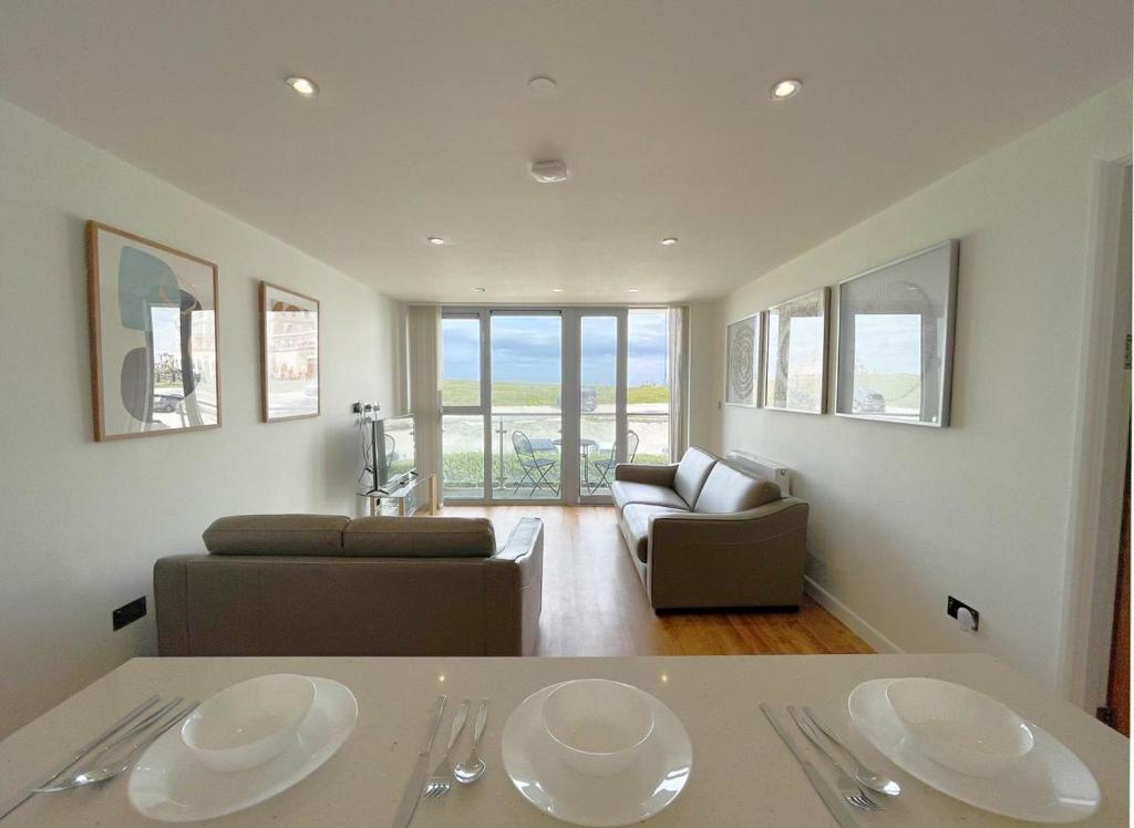
[[[648,819],[677,799],[689,779],[693,745],[672,710],[646,693],[655,725],[640,759],[615,776],[585,776],[564,763],[543,728],[543,700],[558,686],[527,696],[503,726],[505,771],[525,800],[565,822],[609,827]]]

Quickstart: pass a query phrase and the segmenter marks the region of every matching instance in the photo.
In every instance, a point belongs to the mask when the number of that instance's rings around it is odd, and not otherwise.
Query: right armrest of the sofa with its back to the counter
[[[543,521],[522,518],[486,564],[484,654],[535,654],[543,610]]]

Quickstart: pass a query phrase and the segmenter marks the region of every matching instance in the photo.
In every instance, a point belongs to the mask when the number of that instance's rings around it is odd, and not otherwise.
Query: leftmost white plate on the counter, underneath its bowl
[[[311,681],[315,701],[291,747],[260,767],[221,774],[206,768],[175,727],[130,772],[126,788],[130,804],[162,822],[214,819],[269,800],[307,777],[335,755],[358,718],[358,702],[347,687],[329,678]]]

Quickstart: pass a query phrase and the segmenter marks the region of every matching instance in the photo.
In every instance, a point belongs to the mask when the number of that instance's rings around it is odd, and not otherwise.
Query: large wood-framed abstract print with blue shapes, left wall
[[[217,265],[88,221],[94,439],[220,426]]]

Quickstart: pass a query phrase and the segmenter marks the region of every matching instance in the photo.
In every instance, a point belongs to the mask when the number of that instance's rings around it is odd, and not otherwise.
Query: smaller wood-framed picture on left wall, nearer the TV
[[[319,416],[319,301],[260,282],[261,411],[265,423]]]

